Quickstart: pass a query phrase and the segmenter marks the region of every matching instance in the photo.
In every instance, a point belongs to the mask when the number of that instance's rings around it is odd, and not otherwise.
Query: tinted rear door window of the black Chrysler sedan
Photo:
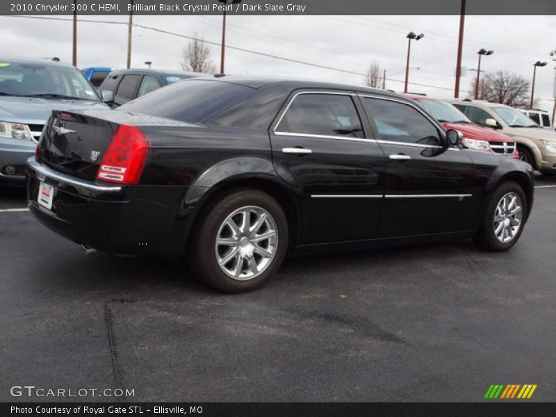
[[[361,120],[350,95],[297,95],[281,118],[276,133],[363,138]]]

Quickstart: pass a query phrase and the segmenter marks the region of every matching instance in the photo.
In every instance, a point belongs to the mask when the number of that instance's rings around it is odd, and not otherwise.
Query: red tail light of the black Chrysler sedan
[[[136,184],[149,154],[149,142],[137,126],[117,127],[97,172],[99,181]]]

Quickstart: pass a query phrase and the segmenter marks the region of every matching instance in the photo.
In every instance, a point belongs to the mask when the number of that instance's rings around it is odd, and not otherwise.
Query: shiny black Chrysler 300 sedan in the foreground
[[[193,79],[116,111],[54,112],[28,160],[28,199],[85,247],[185,254],[215,288],[248,291],[294,249],[473,236],[508,250],[532,168],[459,141],[381,90]]]

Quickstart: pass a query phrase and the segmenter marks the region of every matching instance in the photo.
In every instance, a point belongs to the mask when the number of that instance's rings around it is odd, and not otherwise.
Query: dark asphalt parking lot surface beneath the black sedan
[[[0,401],[556,401],[556,181],[510,252],[467,241],[288,259],[214,293],[182,261],[85,256],[0,190]],[[10,387],[133,389],[14,398]]]

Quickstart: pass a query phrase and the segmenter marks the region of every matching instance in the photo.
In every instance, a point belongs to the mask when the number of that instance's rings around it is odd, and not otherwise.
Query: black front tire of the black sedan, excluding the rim
[[[502,243],[498,238],[496,238],[494,230],[494,215],[496,213],[496,206],[498,203],[508,193],[514,193],[521,200],[521,224],[519,229],[516,231],[512,240],[507,243]],[[486,210],[484,211],[483,218],[477,234],[475,235],[475,243],[482,249],[490,252],[505,252],[509,250],[512,246],[516,244],[523,231],[523,226],[525,225],[525,219],[528,215],[528,202],[523,193],[523,188],[513,181],[508,181],[503,183],[498,189],[493,193],[486,205]]]

